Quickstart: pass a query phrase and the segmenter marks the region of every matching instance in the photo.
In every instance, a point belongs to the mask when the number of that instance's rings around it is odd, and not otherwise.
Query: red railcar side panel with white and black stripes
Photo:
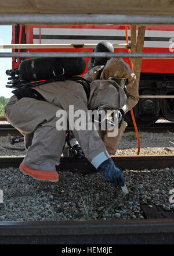
[[[16,42],[13,26],[12,43]],[[131,42],[130,30],[129,40]],[[108,25],[61,25],[61,26],[25,26],[26,44],[97,44],[109,41],[113,44],[125,44],[125,26]],[[174,51],[174,26],[147,26],[144,38],[144,52]],[[14,50],[13,50],[14,51]],[[27,49],[28,52],[92,52],[93,49]],[[115,52],[126,52],[115,49]],[[88,58],[86,58],[88,61]],[[129,62],[125,58],[126,62]],[[14,59],[13,59],[14,62]],[[13,63],[14,64],[14,63]],[[16,65],[13,65],[13,67]],[[143,73],[173,73],[174,59],[143,59]]]

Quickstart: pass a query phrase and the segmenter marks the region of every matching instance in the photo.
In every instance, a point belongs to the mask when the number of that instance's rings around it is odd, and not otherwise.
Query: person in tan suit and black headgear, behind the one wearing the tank
[[[110,42],[102,41],[97,44],[93,52],[114,52],[114,48]],[[117,83],[122,83],[122,81],[125,83],[126,81],[125,94],[127,98],[125,105],[119,109],[119,129],[117,136],[110,137],[108,134],[111,130],[108,131],[106,129],[102,131],[99,127],[100,138],[102,138],[108,153],[110,155],[115,155],[121,137],[127,126],[127,123],[124,121],[124,115],[139,101],[139,84],[136,83],[135,73],[132,72],[128,63],[123,61],[122,58],[90,58],[88,62],[88,70],[89,71],[84,75],[84,78],[90,83],[95,80],[106,79],[116,79]],[[117,129],[117,127],[113,128],[113,133],[114,129]],[[73,138],[73,143],[75,143],[75,141],[77,143],[73,134],[71,134],[71,138]]]

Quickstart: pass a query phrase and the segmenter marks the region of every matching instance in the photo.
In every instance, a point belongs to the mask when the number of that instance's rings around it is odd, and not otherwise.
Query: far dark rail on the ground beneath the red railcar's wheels
[[[147,131],[151,133],[162,133],[165,131],[174,132],[174,123],[155,123],[153,126],[138,127],[139,131]],[[126,127],[125,131],[135,131],[134,127]],[[11,125],[0,125],[0,136],[21,136],[21,133]]]

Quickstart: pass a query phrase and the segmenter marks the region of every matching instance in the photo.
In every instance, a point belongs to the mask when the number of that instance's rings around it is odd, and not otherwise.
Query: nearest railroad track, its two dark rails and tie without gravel
[[[21,157],[0,157],[0,168],[18,168],[21,161]],[[174,155],[121,156],[113,161],[122,169],[160,169],[173,167]],[[59,170],[96,172],[86,158],[62,157]],[[156,205],[140,207],[146,219],[0,222],[0,244],[173,244],[174,213]]]

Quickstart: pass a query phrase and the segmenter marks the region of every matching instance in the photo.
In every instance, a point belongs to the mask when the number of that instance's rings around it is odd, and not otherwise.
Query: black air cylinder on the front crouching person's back
[[[85,58],[34,58],[19,65],[19,77],[25,81],[60,79],[84,73]]]

